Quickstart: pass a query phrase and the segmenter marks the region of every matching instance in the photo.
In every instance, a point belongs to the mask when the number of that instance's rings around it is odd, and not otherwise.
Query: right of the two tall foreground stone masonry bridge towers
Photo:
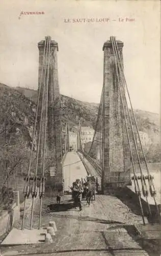
[[[122,57],[123,42],[117,41]],[[102,188],[130,183],[129,146],[111,40],[103,45],[103,163]],[[123,95],[123,94],[122,94]],[[124,97],[123,97],[124,98]],[[125,102],[123,102],[125,106]],[[126,109],[126,108],[125,108]],[[127,114],[126,114],[127,115]]]

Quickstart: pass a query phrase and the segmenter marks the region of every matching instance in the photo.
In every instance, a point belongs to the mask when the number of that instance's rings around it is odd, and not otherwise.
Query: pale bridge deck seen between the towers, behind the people
[[[75,179],[87,177],[86,168],[76,152],[68,152],[63,164],[64,190],[71,191],[70,186]]]

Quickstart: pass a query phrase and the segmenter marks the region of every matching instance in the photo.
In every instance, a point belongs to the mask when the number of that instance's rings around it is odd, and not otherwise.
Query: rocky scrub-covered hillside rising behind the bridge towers
[[[32,133],[36,115],[37,91],[25,88],[11,88],[0,83],[0,158],[8,169],[17,173],[26,170],[30,158]],[[70,127],[78,124],[93,125],[97,119],[98,104],[79,101],[61,95],[62,127],[68,122]],[[153,146],[146,152],[149,161],[159,161],[159,115],[135,110],[139,130],[147,132]],[[6,148],[6,145],[8,147]],[[151,156],[151,152],[153,155]],[[16,164],[16,165],[15,165]],[[4,167],[0,166],[1,172]],[[5,172],[5,171],[4,171]]]

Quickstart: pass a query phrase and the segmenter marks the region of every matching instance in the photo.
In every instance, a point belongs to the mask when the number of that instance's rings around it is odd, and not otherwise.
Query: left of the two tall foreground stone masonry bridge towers
[[[40,136],[40,150],[38,160],[38,174],[42,170],[45,105],[47,101],[47,126],[45,143],[45,195],[52,196],[57,190],[63,189],[62,145],[61,145],[61,117],[60,117],[60,91],[58,82],[57,51],[58,43],[45,37],[38,43],[39,48],[39,87],[40,102],[38,110],[38,135],[40,132],[41,106],[42,129]],[[44,52],[45,48],[45,52]],[[45,54],[44,54],[45,53]],[[46,61],[43,62],[43,59]],[[43,69],[42,69],[43,67]],[[43,71],[43,72],[42,72]],[[41,86],[41,87],[40,87]],[[44,90],[44,97],[43,97]],[[46,97],[47,95],[47,97]],[[39,136],[37,136],[39,137]],[[38,139],[38,138],[37,138]]]

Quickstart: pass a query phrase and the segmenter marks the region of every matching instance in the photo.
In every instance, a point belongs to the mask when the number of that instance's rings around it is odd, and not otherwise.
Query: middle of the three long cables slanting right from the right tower
[[[134,132],[133,132],[133,126],[132,126],[132,122],[131,122],[131,117],[130,117],[129,110],[128,110],[128,105],[127,105],[127,100],[126,100],[126,95],[125,95],[125,89],[124,89],[124,84],[123,84],[123,79],[122,79],[122,72],[123,72],[123,71],[121,72],[121,70],[120,70],[119,59],[118,59],[117,49],[116,49],[116,44],[117,44],[117,42],[116,42],[115,37],[112,37],[112,41],[113,41],[113,45],[114,45],[114,54],[116,55],[116,59],[117,59],[117,63],[118,63],[118,68],[119,68],[119,72],[120,72],[120,77],[121,77],[121,81],[122,81],[122,88],[123,88],[124,99],[125,99],[125,103],[126,103],[126,109],[127,109],[127,113],[128,113],[128,117],[129,117],[129,121],[130,121],[130,127],[131,127],[132,137],[133,137],[133,141],[134,141],[134,143],[135,143],[135,148],[136,148],[136,152],[137,152],[137,158],[138,158],[139,167],[140,167],[140,171],[141,171],[142,191],[143,191],[144,197],[146,197],[146,201],[147,201],[149,213],[150,213],[150,215],[151,215],[151,209],[150,209],[150,205],[149,205],[149,202],[148,202],[148,190],[147,190],[147,185],[146,185],[145,177],[144,177],[143,172],[142,172],[142,167],[141,167],[140,157],[139,157],[139,153],[138,153],[136,138],[135,138],[135,135],[134,135]],[[144,186],[145,186],[145,188],[144,188]]]

